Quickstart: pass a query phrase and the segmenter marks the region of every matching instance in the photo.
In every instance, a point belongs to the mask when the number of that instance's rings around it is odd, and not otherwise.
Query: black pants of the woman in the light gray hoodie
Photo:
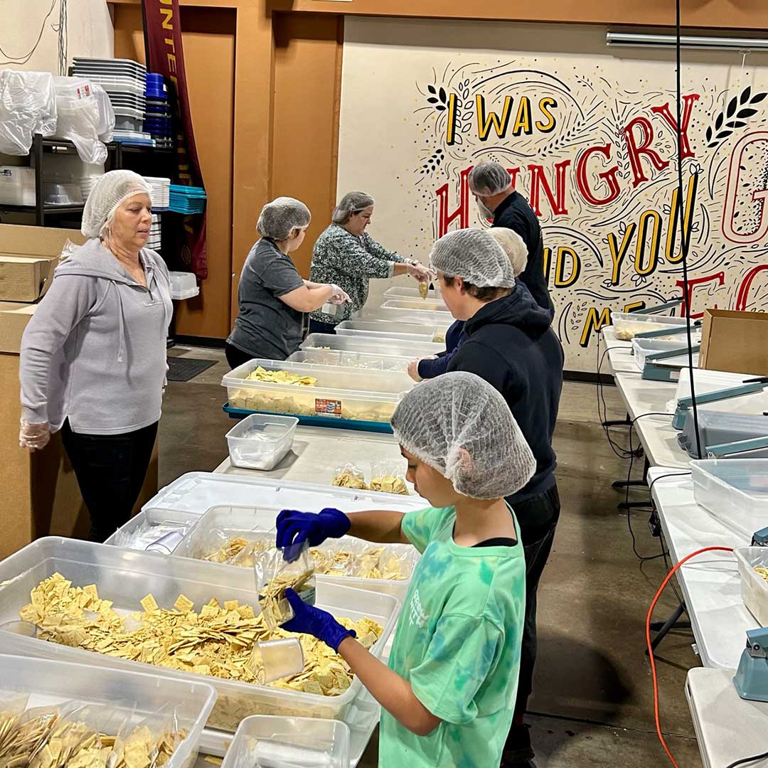
[[[91,541],[104,541],[131,518],[156,437],[157,422],[122,435],[84,435],[64,422],[61,442],[91,514]]]

